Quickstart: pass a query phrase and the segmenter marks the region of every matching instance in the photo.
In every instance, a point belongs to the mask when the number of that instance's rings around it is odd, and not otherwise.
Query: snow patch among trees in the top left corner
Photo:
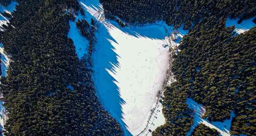
[[[3,28],[1,28],[2,25],[7,25],[9,23],[9,19],[7,17],[4,17],[2,15],[3,12],[11,14],[15,10],[15,6],[18,3],[15,1],[12,1],[7,7],[3,7],[0,5],[0,31],[3,31]]]

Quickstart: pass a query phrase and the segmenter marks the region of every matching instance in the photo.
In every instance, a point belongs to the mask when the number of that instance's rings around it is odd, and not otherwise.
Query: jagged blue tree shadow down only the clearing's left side
[[[92,11],[102,10],[97,0],[81,0],[81,6],[86,12],[86,20],[91,22],[91,18],[97,20],[96,15]],[[121,105],[125,101],[120,97],[120,88],[116,85],[115,78],[109,74],[109,71],[115,73],[115,68],[119,66],[115,52],[115,48],[111,45],[111,41],[115,39],[109,35],[104,25],[99,23],[98,32],[95,33],[97,43],[93,53],[93,80],[96,87],[97,96],[103,104],[104,108],[120,123],[125,136],[132,136],[126,129],[127,125],[123,122]]]

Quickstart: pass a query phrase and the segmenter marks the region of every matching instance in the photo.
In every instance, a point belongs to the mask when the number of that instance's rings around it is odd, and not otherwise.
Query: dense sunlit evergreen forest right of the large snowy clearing
[[[177,82],[164,92],[162,102],[167,123],[153,136],[186,134],[193,120],[186,116],[193,116],[185,104],[189,97],[204,105],[202,118],[224,121],[235,111],[231,134],[256,135],[256,27],[235,36],[225,20],[204,18],[184,37],[173,61]]]

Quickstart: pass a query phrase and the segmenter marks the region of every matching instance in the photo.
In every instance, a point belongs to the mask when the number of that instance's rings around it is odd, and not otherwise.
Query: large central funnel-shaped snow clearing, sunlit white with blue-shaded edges
[[[104,107],[136,135],[147,124],[167,73],[169,52],[162,46],[165,31],[163,27],[148,26],[123,32],[113,24],[109,23],[107,31],[101,30],[106,27],[99,28],[96,36],[94,81]],[[145,31],[147,35],[141,35]],[[151,36],[155,33],[156,37]],[[103,38],[105,35],[108,37]],[[164,118],[158,119],[164,124]]]

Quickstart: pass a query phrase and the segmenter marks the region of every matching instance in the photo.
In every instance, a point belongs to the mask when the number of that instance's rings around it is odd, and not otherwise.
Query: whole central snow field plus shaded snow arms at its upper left
[[[170,53],[165,36],[172,26],[163,22],[120,28],[104,18],[98,0],[80,0],[85,15],[78,13],[70,21],[68,37],[76,46],[77,56],[87,56],[88,40],[76,27],[78,19],[98,20],[97,42],[93,53],[93,80],[104,108],[121,124],[125,136],[136,136],[147,126],[152,131],[165,123],[162,105],[157,103],[167,74]],[[181,36],[187,31],[181,30]],[[157,107],[148,121],[151,109]],[[149,122],[149,123],[148,123]],[[148,123],[148,125],[147,125]],[[140,136],[149,136],[147,130]]]

